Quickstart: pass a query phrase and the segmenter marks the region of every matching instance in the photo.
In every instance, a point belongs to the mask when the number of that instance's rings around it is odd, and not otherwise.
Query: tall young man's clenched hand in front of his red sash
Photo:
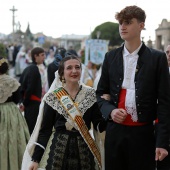
[[[110,116],[114,122],[122,123],[126,119],[127,113],[124,109],[114,109]]]

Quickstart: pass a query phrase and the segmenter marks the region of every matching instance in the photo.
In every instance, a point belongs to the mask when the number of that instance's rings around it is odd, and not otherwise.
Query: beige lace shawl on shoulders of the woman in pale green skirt
[[[0,103],[4,103],[12,96],[19,86],[20,83],[16,79],[6,74],[0,75]]]

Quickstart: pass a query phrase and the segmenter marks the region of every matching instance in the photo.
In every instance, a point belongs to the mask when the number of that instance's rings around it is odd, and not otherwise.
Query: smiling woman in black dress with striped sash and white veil
[[[58,74],[62,85],[58,83],[56,89],[51,87],[53,90],[43,98],[22,170],[94,170],[95,160],[101,167],[100,152],[89,133],[91,122],[100,132],[106,127],[96,103],[95,90],[79,84],[81,63],[74,55],[60,62]],[[48,150],[53,129],[48,159],[42,167],[40,161],[44,149],[45,153]],[[31,165],[27,163],[30,155]]]

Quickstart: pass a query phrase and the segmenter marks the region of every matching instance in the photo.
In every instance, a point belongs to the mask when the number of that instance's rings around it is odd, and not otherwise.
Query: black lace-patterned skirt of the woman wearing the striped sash
[[[46,170],[95,170],[93,154],[78,131],[55,132]]]

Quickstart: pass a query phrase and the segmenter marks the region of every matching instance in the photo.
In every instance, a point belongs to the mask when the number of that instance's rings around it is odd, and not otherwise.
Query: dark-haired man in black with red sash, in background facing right
[[[32,64],[23,71],[19,82],[21,83],[21,103],[24,116],[30,134],[34,130],[39,113],[39,105],[42,97],[42,82],[38,65],[43,64],[45,59],[44,49],[35,47],[31,51]]]

